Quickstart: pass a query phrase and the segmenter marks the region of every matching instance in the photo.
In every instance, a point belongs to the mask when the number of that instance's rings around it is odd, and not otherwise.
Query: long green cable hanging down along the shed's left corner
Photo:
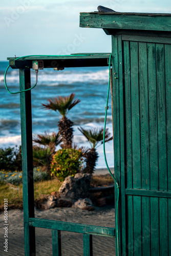
[[[108,82],[108,95],[107,95],[107,99],[106,99],[106,106],[105,106],[105,118],[104,118],[104,132],[103,132],[103,154],[104,154],[104,160],[105,160],[105,164],[106,167],[109,170],[109,173],[111,174],[112,178],[115,180],[116,185],[117,185],[117,189],[118,189],[118,197],[117,197],[117,203],[116,203],[116,236],[117,236],[117,255],[119,256],[119,184],[118,181],[116,180],[116,178],[113,176],[113,174],[111,173],[111,170],[108,166],[108,162],[106,160],[106,155],[105,155],[105,127],[106,127],[106,119],[107,119],[107,113],[108,113],[108,101],[109,101],[109,91],[110,91],[110,81],[111,81],[111,72],[110,72],[110,68],[111,68],[111,58],[112,58],[112,54],[110,55],[109,58],[109,82]]]

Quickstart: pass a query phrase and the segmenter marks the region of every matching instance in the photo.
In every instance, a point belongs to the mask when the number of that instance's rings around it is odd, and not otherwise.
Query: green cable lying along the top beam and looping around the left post
[[[76,56],[91,56],[92,54],[76,54]],[[26,56],[22,56],[22,57],[18,57],[16,58],[15,60],[17,59],[22,59],[22,58],[27,58],[27,57],[63,57],[63,56],[73,56],[73,55],[26,55]],[[6,71],[5,71],[5,74],[4,74],[4,83],[5,83],[5,87],[7,89],[7,91],[10,93],[10,94],[17,94],[17,93],[23,93],[23,92],[27,92],[27,91],[30,91],[32,90],[36,84],[37,84],[37,73],[36,73],[36,83],[34,84],[33,87],[29,88],[29,89],[26,89],[26,90],[23,90],[23,91],[18,91],[18,92],[10,92],[10,90],[8,89],[8,86],[7,86],[7,82],[6,82],[6,76],[7,76],[7,71],[9,69],[10,65],[8,65],[8,67],[6,68]]]

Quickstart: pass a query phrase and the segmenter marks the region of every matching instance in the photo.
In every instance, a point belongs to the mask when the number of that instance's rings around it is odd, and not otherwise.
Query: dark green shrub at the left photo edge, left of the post
[[[0,148],[0,169],[22,170],[22,146]]]

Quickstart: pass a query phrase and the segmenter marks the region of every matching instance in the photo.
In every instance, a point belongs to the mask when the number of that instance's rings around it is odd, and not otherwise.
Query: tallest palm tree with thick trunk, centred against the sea
[[[61,145],[62,148],[71,148],[72,147],[72,140],[73,140],[73,122],[69,120],[66,115],[68,114],[69,110],[73,108],[77,103],[80,102],[79,99],[74,100],[75,94],[72,93],[66,97],[56,97],[54,99],[48,99],[49,104],[42,104],[45,109],[58,111],[62,118],[58,122],[59,133],[62,137],[63,144]]]

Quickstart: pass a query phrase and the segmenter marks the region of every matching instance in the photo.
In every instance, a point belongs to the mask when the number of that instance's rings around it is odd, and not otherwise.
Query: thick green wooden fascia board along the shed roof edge
[[[126,30],[170,31],[170,15],[143,13],[80,13],[80,27]]]

